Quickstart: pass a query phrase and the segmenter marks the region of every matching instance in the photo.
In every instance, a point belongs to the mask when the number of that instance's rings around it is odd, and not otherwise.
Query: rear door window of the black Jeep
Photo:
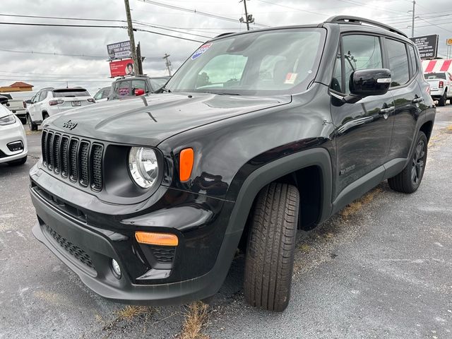
[[[405,85],[410,80],[405,44],[386,39],[386,49],[388,50],[389,69],[391,70],[391,87]]]

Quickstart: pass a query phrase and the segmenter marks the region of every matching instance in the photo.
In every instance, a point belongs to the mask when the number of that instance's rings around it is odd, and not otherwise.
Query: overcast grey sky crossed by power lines
[[[243,15],[243,3],[239,0],[156,0],[191,10],[213,13],[217,16],[237,19],[237,22],[203,16],[198,13],[178,11],[130,0],[132,19],[147,25],[134,24],[135,28],[177,35],[192,40],[205,41],[221,32],[245,30],[238,19]],[[76,25],[114,25],[125,23],[109,21],[54,20],[43,18],[18,18],[5,14],[24,16],[54,16],[125,20],[123,0],[1,0],[0,22],[8,23],[70,23]],[[409,0],[248,0],[249,13],[256,24],[278,26],[320,23],[333,15],[363,16],[393,25],[409,36],[412,2]],[[451,0],[417,0],[415,36],[439,34],[439,56],[446,57],[446,38],[452,37]],[[148,25],[165,26],[172,32],[151,28]],[[251,25],[252,28],[261,28]],[[0,25],[0,85],[25,81],[35,86],[66,87],[80,85],[92,95],[98,88],[111,83],[106,44],[129,40],[124,28],[61,28],[26,25]],[[190,34],[189,34],[190,33]],[[199,36],[201,35],[201,36]],[[136,43],[141,42],[144,73],[150,76],[166,75],[165,53],[171,54],[174,71],[201,44],[174,37],[135,32]],[[8,51],[6,51],[8,50]],[[20,51],[20,52],[11,52]],[[48,52],[78,54],[61,56],[30,53]],[[85,57],[83,57],[83,56]]]

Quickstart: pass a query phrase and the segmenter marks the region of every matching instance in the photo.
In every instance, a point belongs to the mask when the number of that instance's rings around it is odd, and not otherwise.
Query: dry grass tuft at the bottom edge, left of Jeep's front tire
[[[201,301],[192,302],[186,307],[184,327],[180,335],[181,339],[207,339],[207,335],[201,333],[208,321],[208,304]]]

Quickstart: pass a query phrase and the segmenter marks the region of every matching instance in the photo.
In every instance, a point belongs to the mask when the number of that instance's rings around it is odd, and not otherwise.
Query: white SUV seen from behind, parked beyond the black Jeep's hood
[[[92,105],[95,103],[85,88],[43,88],[27,107],[27,122],[32,131],[42,124],[47,117],[66,112],[68,109]]]

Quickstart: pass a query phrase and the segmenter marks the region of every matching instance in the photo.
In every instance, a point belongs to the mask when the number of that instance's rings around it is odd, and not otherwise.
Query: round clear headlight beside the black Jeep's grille
[[[153,186],[158,177],[157,154],[152,148],[132,147],[129,152],[129,172],[143,189]]]

